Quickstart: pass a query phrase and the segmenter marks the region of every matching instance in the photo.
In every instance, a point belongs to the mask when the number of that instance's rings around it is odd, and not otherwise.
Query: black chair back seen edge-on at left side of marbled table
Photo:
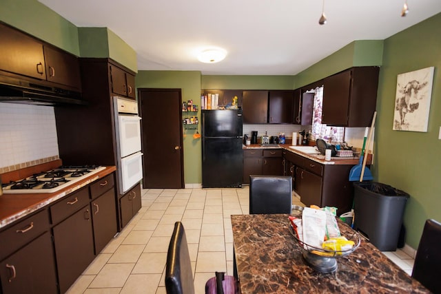
[[[192,264],[188,253],[187,238],[181,222],[174,224],[168,246],[165,269],[165,289],[168,294],[193,294]]]

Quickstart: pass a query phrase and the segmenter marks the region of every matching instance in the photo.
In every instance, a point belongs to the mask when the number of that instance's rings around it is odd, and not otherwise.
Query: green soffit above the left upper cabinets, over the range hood
[[[76,26],[36,0],[1,0],[0,21],[80,55]]]

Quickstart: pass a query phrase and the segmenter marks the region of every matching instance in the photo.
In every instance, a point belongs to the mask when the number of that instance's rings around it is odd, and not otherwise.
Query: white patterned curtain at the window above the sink
[[[345,127],[328,127],[322,124],[323,86],[314,90],[314,108],[312,118],[311,137],[313,140],[321,138],[327,143],[343,142]]]

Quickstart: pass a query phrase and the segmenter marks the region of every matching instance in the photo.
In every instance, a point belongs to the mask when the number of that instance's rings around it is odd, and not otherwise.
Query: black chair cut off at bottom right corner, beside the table
[[[436,220],[426,220],[418,249],[415,263],[413,264],[412,277],[418,280],[433,293],[441,293],[441,223]]]

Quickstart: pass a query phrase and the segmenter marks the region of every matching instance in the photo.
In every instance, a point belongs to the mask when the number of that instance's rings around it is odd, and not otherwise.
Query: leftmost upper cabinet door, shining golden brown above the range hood
[[[0,70],[46,79],[43,44],[0,24]]]

